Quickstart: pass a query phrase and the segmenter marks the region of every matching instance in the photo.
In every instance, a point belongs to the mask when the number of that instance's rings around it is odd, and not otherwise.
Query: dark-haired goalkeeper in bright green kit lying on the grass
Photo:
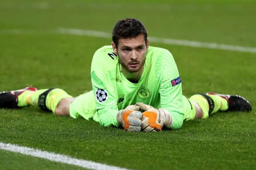
[[[93,118],[102,126],[130,131],[178,129],[184,120],[208,118],[216,111],[252,109],[238,95],[182,96],[182,81],[172,54],[149,46],[146,28],[137,19],[118,21],[112,41],[93,56],[93,91],[73,98],[59,88],[29,87],[0,93],[0,107],[39,106],[56,115]]]

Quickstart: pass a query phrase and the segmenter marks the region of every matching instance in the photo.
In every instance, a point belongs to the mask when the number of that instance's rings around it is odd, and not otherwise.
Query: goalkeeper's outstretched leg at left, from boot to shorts
[[[93,92],[87,92],[76,98],[58,88],[37,90],[33,87],[8,92],[0,92],[0,108],[19,108],[38,106],[43,110],[52,111],[56,115],[83,117],[98,121],[96,102]]]

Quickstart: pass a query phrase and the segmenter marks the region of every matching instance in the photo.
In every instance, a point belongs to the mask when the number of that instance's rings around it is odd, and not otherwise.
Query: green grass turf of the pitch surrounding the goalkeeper
[[[0,91],[28,84],[39,89],[59,87],[76,96],[92,89],[92,55],[110,45],[111,39],[49,30],[64,27],[111,33],[117,20],[133,16],[143,21],[150,36],[256,47],[255,8],[254,1],[242,0],[1,1]],[[7,33],[9,29],[34,32],[13,34]],[[252,112],[216,113],[210,119],[185,122],[175,131],[130,133],[35,108],[0,109],[0,142],[131,169],[254,169],[256,54],[150,45],[172,52],[184,95],[238,93],[251,102]],[[0,169],[17,169],[19,163],[26,167],[32,161],[31,167],[38,169],[77,168],[0,150]]]

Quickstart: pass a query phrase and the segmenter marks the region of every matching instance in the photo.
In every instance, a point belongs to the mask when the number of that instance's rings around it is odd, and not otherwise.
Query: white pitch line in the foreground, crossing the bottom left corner
[[[51,160],[54,162],[61,162],[64,164],[76,165],[76,166],[80,166],[80,167],[88,168],[88,169],[92,169],[92,170],[128,170],[128,169],[120,168],[117,166],[100,164],[100,163],[93,162],[90,160],[76,159],[76,158],[72,158],[72,157],[69,157],[66,155],[62,155],[62,154],[46,152],[46,151],[32,149],[32,148],[28,148],[28,147],[20,147],[18,145],[12,145],[12,144],[8,144],[8,143],[0,142],[0,149],[11,151],[11,152],[17,152],[17,153],[21,153],[21,154],[26,154],[26,155],[30,155],[30,156],[35,156],[38,158],[44,158],[44,159],[48,159],[48,160]]]

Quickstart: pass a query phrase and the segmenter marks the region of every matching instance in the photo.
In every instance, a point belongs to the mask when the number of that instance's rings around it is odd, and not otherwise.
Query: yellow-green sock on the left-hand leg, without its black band
[[[24,91],[18,96],[18,106],[38,106],[38,98],[42,93],[46,92],[46,90],[48,89],[38,90],[36,92],[29,90]],[[64,98],[72,98],[72,96],[68,95],[62,89],[54,88],[46,96],[46,107],[54,113],[58,103]]]

